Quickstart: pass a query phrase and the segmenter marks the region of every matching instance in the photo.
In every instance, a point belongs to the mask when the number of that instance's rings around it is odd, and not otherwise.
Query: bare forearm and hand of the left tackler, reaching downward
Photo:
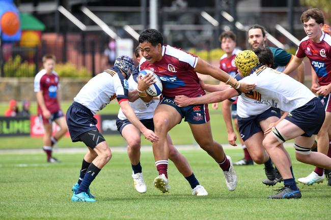
[[[153,131],[147,129],[142,122],[135,116],[131,106],[129,105],[129,101],[120,102],[120,107],[122,109],[123,114],[126,118],[137,128],[145,138],[151,142],[158,141],[158,136],[154,134]]]

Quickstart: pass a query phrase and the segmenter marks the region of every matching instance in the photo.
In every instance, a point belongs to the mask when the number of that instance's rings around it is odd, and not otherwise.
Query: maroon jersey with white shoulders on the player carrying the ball
[[[140,62],[140,70],[151,70],[161,79],[164,97],[177,95],[197,97],[205,95],[205,91],[199,84],[198,75],[194,71],[197,62],[196,55],[163,45],[162,59],[154,64],[149,64],[143,57]]]

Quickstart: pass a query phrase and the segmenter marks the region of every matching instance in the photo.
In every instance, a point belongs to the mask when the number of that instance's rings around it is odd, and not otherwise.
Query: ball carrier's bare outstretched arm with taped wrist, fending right
[[[210,75],[219,81],[227,83],[233,88],[239,89],[241,92],[249,92],[256,87],[254,84],[247,84],[244,82],[239,83],[223,70],[208,64],[208,62],[201,58],[198,58],[195,71],[204,75]]]

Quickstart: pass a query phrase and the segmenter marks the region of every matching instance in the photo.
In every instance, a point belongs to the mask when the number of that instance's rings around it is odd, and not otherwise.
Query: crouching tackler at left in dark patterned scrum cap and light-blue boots
[[[109,102],[117,98],[123,114],[145,138],[152,142],[158,140],[154,132],[136,117],[129,105],[127,79],[133,70],[133,60],[128,56],[119,56],[114,68],[96,75],[80,89],[67,111],[66,119],[72,142],[81,141],[89,149],[82,161],[78,182],[72,187],[73,202],[96,201],[89,186],[112,158],[111,149],[97,129],[98,121],[93,117]]]

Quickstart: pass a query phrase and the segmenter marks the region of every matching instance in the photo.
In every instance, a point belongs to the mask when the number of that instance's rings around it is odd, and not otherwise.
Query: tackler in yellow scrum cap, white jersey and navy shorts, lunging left
[[[264,132],[266,137],[263,140],[263,146],[284,179],[284,187],[268,198],[298,199],[301,198],[301,191],[296,185],[291,170],[289,154],[282,144],[294,139],[295,156],[298,161],[330,169],[331,159],[328,156],[311,151],[315,135],[318,134],[325,118],[324,108],[305,85],[263,65],[266,63],[265,60],[269,60],[272,56],[270,49],[257,48],[254,51],[257,54],[244,50],[235,58],[238,73],[244,77],[240,81],[256,85],[256,88],[247,95],[251,96],[257,104],[265,104],[288,112],[284,119],[270,124]],[[230,89],[217,92],[218,100],[240,93]],[[199,103],[211,100],[210,98],[206,100],[206,97],[205,100],[203,97],[199,98],[202,98]]]

